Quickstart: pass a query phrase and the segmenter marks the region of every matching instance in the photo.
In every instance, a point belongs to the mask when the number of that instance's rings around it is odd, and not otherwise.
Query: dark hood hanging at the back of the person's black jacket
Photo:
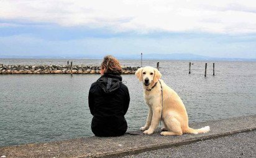
[[[122,77],[119,75],[104,74],[97,80],[97,84],[108,94],[119,89],[121,81]]]

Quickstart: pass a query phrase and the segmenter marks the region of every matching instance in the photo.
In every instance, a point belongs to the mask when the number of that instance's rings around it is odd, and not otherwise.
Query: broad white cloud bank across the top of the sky
[[[112,32],[256,33],[256,2],[0,1],[0,20],[45,22],[63,27],[86,26]]]

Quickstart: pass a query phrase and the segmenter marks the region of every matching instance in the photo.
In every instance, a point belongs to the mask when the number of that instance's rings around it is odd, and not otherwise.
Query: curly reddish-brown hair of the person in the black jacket
[[[112,55],[104,57],[101,63],[101,69],[104,70],[104,74],[122,74],[122,68],[119,61]]]

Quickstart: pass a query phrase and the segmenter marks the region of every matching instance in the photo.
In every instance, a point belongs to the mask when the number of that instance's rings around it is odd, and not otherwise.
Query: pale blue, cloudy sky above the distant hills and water
[[[256,58],[254,0],[0,0],[0,56]]]

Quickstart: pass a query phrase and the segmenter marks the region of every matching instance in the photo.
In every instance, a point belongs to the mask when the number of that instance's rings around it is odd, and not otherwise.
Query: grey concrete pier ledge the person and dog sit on
[[[159,132],[150,136],[141,131],[116,138],[78,138],[51,143],[24,144],[0,147],[0,157],[117,157],[127,154],[163,149],[190,144],[206,139],[229,136],[256,129],[256,115],[225,120],[206,121],[191,124],[192,128],[209,125],[211,131],[205,134],[183,134],[182,136],[161,136]],[[139,129],[139,127],[138,127]],[[232,146],[232,144],[231,144]]]

